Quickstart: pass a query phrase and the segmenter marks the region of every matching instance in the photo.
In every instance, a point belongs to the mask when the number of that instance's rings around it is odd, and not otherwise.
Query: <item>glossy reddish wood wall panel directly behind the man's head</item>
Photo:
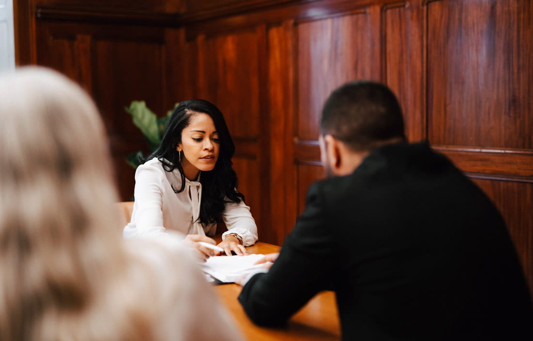
[[[322,105],[336,87],[358,78],[379,79],[379,65],[372,63],[379,57],[369,29],[365,12],[297,26],[298,139],[318,140]]]

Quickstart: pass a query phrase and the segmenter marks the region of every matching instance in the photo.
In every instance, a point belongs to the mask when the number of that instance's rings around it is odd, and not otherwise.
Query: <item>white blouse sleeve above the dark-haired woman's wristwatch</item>
[[[236,233],[243,239],[244,246],[251,246],[257,241],[257,226],[244,201],[226,204],[222,218],[228,231],[222,234],[222,240],[230,233]]]

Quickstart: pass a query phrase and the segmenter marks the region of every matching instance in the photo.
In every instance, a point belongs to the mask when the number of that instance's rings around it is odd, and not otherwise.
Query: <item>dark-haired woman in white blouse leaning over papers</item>
[[[189,100],[177,105],[159,148],[137,168],[135,203],[124,237],[166,229],[213,236],[216,223],[223,221],[228,231],[219,246],[227,255],[246,255],[245,246],[257,240],[257,227],[243,194],[236,190],[234,152],[228,127],[214,104]],[[204,257],[215,255],[195,246]]]

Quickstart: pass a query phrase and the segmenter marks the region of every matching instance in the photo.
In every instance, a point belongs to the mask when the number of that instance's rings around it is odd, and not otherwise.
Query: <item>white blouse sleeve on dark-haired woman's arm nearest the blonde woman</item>
[[[140,165],[135,172],[135,225],[138,236],[165,232],[162,181],[160,170],[154,166]]]

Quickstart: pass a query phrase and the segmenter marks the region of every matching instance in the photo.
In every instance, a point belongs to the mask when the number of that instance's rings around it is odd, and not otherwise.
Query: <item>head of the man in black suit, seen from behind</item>
[[[346,83],[329,95],[320,135],[328,175],[350,174],[374,148],[406,141],[398,100],[388,87],[370,81]]]

